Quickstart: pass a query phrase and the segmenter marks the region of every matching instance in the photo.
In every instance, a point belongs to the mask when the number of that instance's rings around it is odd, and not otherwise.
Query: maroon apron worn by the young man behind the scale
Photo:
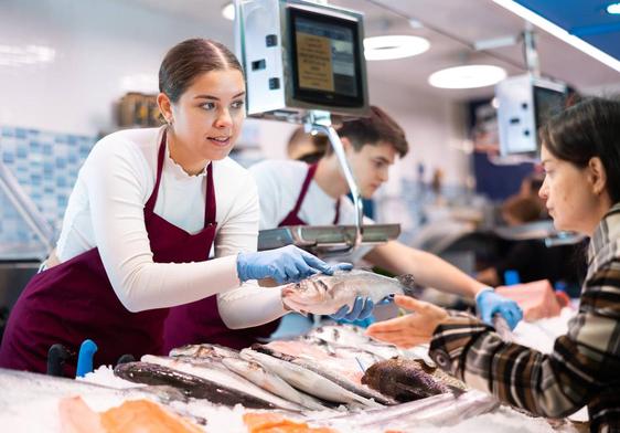
[[[316,171],[317,165],[310,166],[295,208],[278,226],[307,225],[299,219],[297,213],[301,208]],[[334,224],[338,223],[339,219],[338,204],[339,202],[336,202]],[[200,342],[211,342],[234,349],[243,349],[252,346],[259,339],[269,337],[278,328],[280,320],[278,319],[252,328],[229,329],[220,317],[217,297],[210,296],[205,299],[170,309],[164,328],[164,351],[168,352],[175,347]]]

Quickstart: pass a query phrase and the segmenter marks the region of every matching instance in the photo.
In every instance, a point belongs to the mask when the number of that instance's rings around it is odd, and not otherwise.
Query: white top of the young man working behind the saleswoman
[[[309,167],[302,161],[269,160],[249,168],[258,188],[260,230],[277,228],[295,208]],[[308,225],[332,225],[335,218],[335,204],[336,199],[330,197],[312,180],[298,216]],[[356,210],[348,197],[341,197],[339,211],[339,224],[355,223]],[[374,221],[364,216],[364,224],[374,224]],[[339,258],[356,262],[371,250],[371,246],[361,246],[349,256]]]

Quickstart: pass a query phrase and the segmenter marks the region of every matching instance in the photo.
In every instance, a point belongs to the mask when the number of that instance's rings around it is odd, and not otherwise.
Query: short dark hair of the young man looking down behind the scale
[[[338,129],[338,135],[341,138],[346,137],[356,151],[366,145],[376,146],[382,141],[394,146],[400,157],[409,150],[403,128],[387,113],[375,106],[371,107],[370,117],[344,122]],[[328,146],[325,154],[332,151],[331,146]]]

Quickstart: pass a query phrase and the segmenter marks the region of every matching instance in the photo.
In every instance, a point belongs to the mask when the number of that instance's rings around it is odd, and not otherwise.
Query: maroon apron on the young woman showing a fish
[[[165,131],[159,147],[156,184],[145,205],[153,261],[205,261],[216,228],[212,165],[207,168],[205,226],[190,234],[153,212],[164,155]],[[168,311],[169,308],[158,308],[131,313],[125,308],[95,247],[30,281],[9,317],[0,347],[0,367],[45,372],[50,346],[60,342],[77,351],[86,338],[98,346],[95,366],[116,365],[125,353],[137,359],[145,353],[162,353],[163,321]],[[70,359],[65,365],[67,376],[75,374],[76,361]]]

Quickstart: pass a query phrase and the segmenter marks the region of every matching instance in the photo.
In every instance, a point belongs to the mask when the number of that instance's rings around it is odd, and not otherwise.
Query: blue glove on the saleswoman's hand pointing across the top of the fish
[[[237,255],[237,275],[242,282],[274,278],[278,284],[295,283],[319,272],[332,275],[339,268],[350,270],[351,265],[330,266],[293,245]]]

